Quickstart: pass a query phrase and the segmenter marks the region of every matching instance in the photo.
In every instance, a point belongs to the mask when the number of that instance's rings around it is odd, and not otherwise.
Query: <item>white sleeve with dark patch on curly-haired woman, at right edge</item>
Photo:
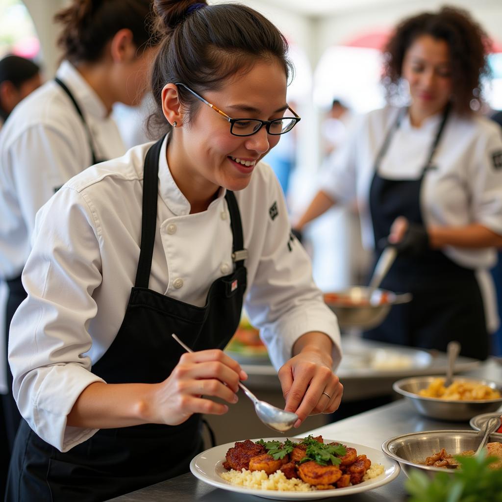
[[[471,152],[467,182],[473,221],[502,235],[502,132],[497,124],[489,125]]]

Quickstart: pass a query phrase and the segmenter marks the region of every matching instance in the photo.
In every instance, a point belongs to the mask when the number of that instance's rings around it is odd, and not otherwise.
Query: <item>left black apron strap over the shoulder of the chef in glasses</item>
[[[155,228],[157,226],[157,194],[159,186],[159,156],[164,136],[152,145],[145,158],[143,174],[143,210],[141,222],[141,248],[138,271],[136,273],[137,288],[148,289],[150,270],[154,254]]]

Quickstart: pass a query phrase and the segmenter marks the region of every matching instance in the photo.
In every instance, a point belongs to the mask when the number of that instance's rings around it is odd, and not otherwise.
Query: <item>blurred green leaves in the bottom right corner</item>
[[[486,457],[455,456],[460,466],[453,474],[438,472],[431,479],[414,470],[405,487],[411,495],[410,502],[502,502],[502,472],[489,464],[499,460]]]

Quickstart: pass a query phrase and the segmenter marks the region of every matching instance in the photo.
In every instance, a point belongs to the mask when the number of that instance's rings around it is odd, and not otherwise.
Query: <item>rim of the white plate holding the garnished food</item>
[[[282,437],[281,438],[281,437],[275,436],[272,438],[256,438],[256,439],[251,439],[250,441],[258,441],[259,439],[263,439],[264,441],[274,441],[274,440],[283,440],[284,441],[285,439],[301,440],[302,438],[298,438],[298,437],[290,437],[290,438]],[[346,444],[348,447],[355,448],[356,450],[357,450],[357,447],[363,448],[366,450],[371,450],[371,451],[375,452],[376,454],[378,454],[379,456],[383,454],[383,460],[388,461],[390,464],[392,464],[394,471],[392,473],[390,473],[389,476],[384,477],[378,481],[373,481],[371,484],[364,484],[365,481],[363,481],[362,483],[359,483],[354,486],[347,486],[347,488],[351,488],[350,491],[345,491],[344,488],[334,488],[331,490],[319,490],[319,491],[278,491],[278,490],[259,490],[259,489],[254,489],[254,488],[246,488],[246,487],[232,485],[229,482],[225,481],[223,478],[221,478],[221,481],[209,478],[196,468],[196,463],[197,463],[197,460],[199,459],[199,457],[201,457],[204,454],[207,455],[208,452],[210,452],[211,450],[216,449],[216,448],[223,448],[223,449],[231,448],[235,445],[236,441],[230,441],[229,443],[217,445],[217,446],[214,446],[212,448],[208,448],[207,450],[199,453],[191,460],[190,471],[197,479],[199,479],[202,482],[205,482],[207,484],[210,484],[211,486],[215,486],[216,488],[226,489],[228,491],[234,491],[237,493],[244,493],[244,494],[248,494],[248,495],[257,495],[257,496],[261,496],[261,497],[265,497],[265,498],[268,497],[268,496],[265,496],[265,494],[270,495],[269,498],[272,498],[272,494],[277,494],[278,496],[285,497],[285,498],[283,498],[283,500],[287,500],[287,499],[307,500],[307,499],[314,499],[314,498],[319,499],[319,498],[328,498],[328,497],[333,497],[333,496],[350,495],[352,493],[367,491],[367,490],[371,490],[373,488],[378,488],[380,486],[383,486],[385,484],[390,483],[391,481],[396,479],[401,472],[401,466],[399,465],[399,462],[397,462],[393,458],[388,457],[381,450],[378,450],[376,448],[372,448],[370,446],[358,444],[358,443],[344,442],[343,440],[340,440],[340,439],[328,439],[328,438],[323,438],[323,439],[325,441],[329,441],[329,442],[332,442],[332,441],[342,442],[342,444]],[[242,440],[242,441],[244,441],[244,440]],[[381,463],[381,462],[376,462],[376,463]],[[387,468],[390,468],[390,467],[391,466],[388,466]]]

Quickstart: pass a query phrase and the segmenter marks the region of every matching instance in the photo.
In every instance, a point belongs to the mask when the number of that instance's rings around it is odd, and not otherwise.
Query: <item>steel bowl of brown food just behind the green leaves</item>
[[[502,469],[500,440],[499,434],[491,434],[486,445],[487,455],[498,458],[490,464],[493,469]],[[436,472],[454,472],[459,468],[455,457],[473,455],[480,441],[479,432],[471,430],[412,432],[388,439],[382,444],[382,450],[399,462],[407,476],[413,470],[420,470],[432,477]]]

